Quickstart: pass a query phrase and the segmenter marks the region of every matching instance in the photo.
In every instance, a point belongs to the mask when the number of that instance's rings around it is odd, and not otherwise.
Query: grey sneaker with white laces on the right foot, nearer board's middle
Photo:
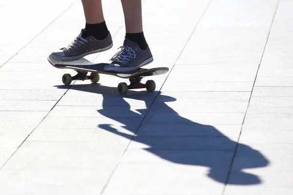
[[[105,71],[131,72],[153,61],[149,47],[142,50],[139,45],[125,39],[121,50],[110,59],[112,62],[105,66]]]

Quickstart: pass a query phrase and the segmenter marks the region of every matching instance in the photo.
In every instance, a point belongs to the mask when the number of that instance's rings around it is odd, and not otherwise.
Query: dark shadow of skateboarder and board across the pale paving
[[[64,86],[58,87],[64,88]],[[123,127],[136,136],[117,131],[112,124],[98,126],[134,141],[133,144],[147,146],[144,150],[153,155],[177,164],[207,167],[209,168],[207,175],[221,183],[233,185],[261,183],[258,176],[243,171],[266,167],[269,164],[259,151],[231,140],[211,125],[196,123],[181,117],[166,104],[168,101],[176,101],[175,98],[163,96],[156,91],[149,93],[129,90],[126,95],[121,95],[116,87],[99,84],[75,84],[70,89],[103,95],[103,109],[97,112],[124,124]],[[131,110],[126,98],[144,101],[146,109]],[[113,106],[119,107],[115,111]],[[125,117],[117,117],[115,112],[123,113]],[[133,118],[133,121],[129,120],[129,117]],[[139,123],[134,127],[137,120]],[[235,150],[237,153],[234,157]]]

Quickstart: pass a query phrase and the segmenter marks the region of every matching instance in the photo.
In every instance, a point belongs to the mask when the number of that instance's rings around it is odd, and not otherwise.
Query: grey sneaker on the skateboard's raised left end
[[[51,57],[60,61],[72,61],[83,58],[86,55],[103,52],[113,46],[112,37],[109,33],[104,40],[97,40],[94,37],[83,38],[82,33],[67,47],[52,52]]]

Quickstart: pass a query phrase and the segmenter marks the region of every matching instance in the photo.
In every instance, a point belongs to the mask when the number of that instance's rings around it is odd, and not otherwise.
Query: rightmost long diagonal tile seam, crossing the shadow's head
[[[245,115],[244,115],[244,118],[243,118],[243,122],[242,122],[242,125],[241,125],[241,130],[240,130],[239,137],[238,137],[238,140],[237,140],[237,145],[235,147],[234,154],[232,156],[232,160],[231,160],[231,163],[230,163],[230,169],[229,169],[228,174],[227,174],[227,180],[226,180],[226,182],[224,184],[224,188],[223,188],[222,195],[225,195],[226,187],[227,187],[228,181],[230,179],[230,175],[231,175],[231,171],[232,171],[232,166],[233,166],[234,159],[235,159],[236,152],[237,152],[237,148],[238,148],[238,145],[239,145],[240,136],[241,136],[241,133],[242,133],[242,130],[243,130],[243,125],[244,125],[244,122],[245,122],[245,119],[246,119],[246,115],[247,115],[248,108],[250,106],[250,102],[251,102],[251,97],[252,97],[252,93],[253,93],[255,81],[256,81],[256,78],[257,78],[257,75],[258,75],[258,72],[259,72],[259,68],[260,68],[262,59],[263,59],[264,54],[265,54],[265,51],[266,51],[266,47],[267,47],[267,44],[268,44],[268,41],[269,41],[269,38],[270,38],[270,34],[271,34],[271,30],[272,30],[272,25],[273,25],[273,22],[274,22],[274,19],[275,19],[277,10],[278,10],[279,3],[280,3],[280,0],[277,0],[276,7],[275,7],[275,10],[274,10],[274,14],[273,14],[273,17],[272,17],[271,26],[270,26],[270,29],[269,29],[269,33],[268,33],[268,36],[267,36],[267,40],[266,40],[265,46],[263,48],[263,53],[262,53],[262,56],[260,58],[260,62],[259,62],[258,68],[257,68],[257,71],[256,71],[255,79],[254,79],[254,82],[253,82],[253,85],[252,85],[252,89],[251,89],[251,95],[250,95],[250,98],[249,98],[249,101],[248,101],[248,105],[247,105],[247,108],[246,108],[246,112],[245,112]]]

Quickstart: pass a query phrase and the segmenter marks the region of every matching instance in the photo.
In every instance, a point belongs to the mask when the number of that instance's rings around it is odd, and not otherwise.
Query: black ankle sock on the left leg
[[[95,39],[103,40],[109,35],[106,22],[98,24],[89,24],[85,23],[85,29],[82,34],[82,37],[85,39],[87,37],[93,36]]]

